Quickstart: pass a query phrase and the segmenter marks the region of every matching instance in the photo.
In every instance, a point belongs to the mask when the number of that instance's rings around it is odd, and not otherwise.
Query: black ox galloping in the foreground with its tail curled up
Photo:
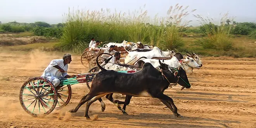
[[[185,88],[190,88],[187,74],[181,67],[175,69],[159,60],[160,71],[154,68],[152,64],[145,63],[142,69],[136,73],[118,73],[101,67],[97,61],[99,56],[100,54],[97,56],[96,63],[102,71],[94,76],[90,91],[69,112],[78,111],[81,105],[86,103],[84,116],[86,119],[90,119],[88,109],[93,102],[105,95],[121,93],[126,95],[125,104],[122,109],[124,114],[127,114],[125,112],[126,105],[130,103],[131,97],[135,96],[157,98],[171,109],[174,116],[182,117],[178,114],[173,99],[163,94],[170,83],[178,83]]]

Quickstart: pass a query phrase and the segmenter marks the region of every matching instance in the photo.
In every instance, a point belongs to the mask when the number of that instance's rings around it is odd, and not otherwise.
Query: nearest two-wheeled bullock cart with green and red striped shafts
[[[90,73],[76,73],[76,77],[61,80],[61,83],[54,85],[44,76],[33,77],[26,80],[19,91],[19,102],[29,115],[40,117],[47,116],[54,109],[61,109],[71,100],[71,85],[78,83],[92,82],[95,74],[93,69]],[[136,71],[118,71],[121,73],[134,73]],[[73,72],[69,72],[73,73]]]

